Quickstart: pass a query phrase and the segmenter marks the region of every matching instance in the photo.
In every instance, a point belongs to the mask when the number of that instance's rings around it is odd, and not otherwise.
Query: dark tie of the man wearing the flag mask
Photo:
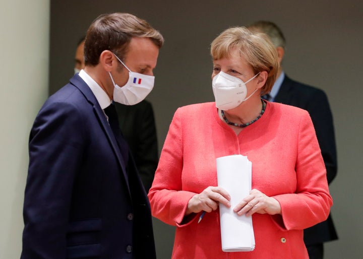
[[[114,104],[111,103],[107,108],[104,109],[104,112],[108,117],[108,124],[111,126],[113,135],[125,161],[125,165],[127,165],[129,161],[129,145],[122,136],[121,130],[118,126],[117,112]]]

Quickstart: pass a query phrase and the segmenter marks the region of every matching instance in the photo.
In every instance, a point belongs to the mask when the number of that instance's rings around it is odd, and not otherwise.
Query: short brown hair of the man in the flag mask
[[[84,56],[86,66],[96,66],[104,50],[110,50],[121,60],[127,53],[132,37],[150,38],[161,48],[164,38],[149,23],[127,13],[103,14],[87,30]]]

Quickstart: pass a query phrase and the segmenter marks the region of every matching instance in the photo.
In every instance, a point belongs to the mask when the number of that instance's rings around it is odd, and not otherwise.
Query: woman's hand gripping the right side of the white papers
[[[281,207],[279,202],[271,197],[266,196],[264,193],[257,189],[250,191],[250,195],[240,201],[233,209],[238,215],[251,216],[254,213],[259,214],[281,214]]]

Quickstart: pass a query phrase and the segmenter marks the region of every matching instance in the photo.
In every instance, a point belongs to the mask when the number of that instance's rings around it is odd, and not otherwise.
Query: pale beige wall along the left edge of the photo
[[[3,0],[0,8],[0,258],[19,258],[28,136],[48,94],[49,1]]]

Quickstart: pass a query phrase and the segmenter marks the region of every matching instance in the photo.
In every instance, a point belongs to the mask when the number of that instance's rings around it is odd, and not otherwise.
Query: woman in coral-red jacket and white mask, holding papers
[[[211,55],[215,102],[176,110],[148,193],[152,215],[176,226],[172,258],[307,259],[303,231],[332,206],[309,113],[261,99],[279,68],[263,33],[229,28]],[[234,154],[252,163],[252,191],[231,207],[216,158]],[[253,251],[222,251],[219,204],[252,217]]]

